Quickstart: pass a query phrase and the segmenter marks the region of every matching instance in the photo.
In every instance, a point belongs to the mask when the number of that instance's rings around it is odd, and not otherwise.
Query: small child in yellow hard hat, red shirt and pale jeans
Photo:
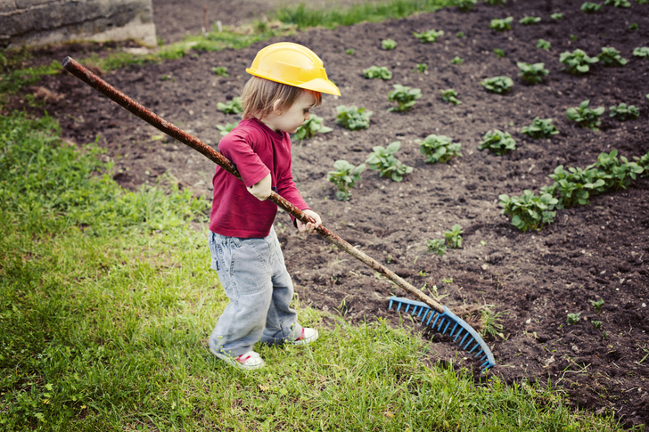
[[[218,144],[239,170],[239,180],[217,167],[209,217],[211,267],[218,273],[229,304],[209,336],[209,350],[237,368],[264,366],[252,351],[258,342],[308,344],[317,330],[303,328],[290,307],[291,276],[273,228],[275,191],[314,223],[292,217],[299,232],[314,232],[320,216],[308,208],[291,173],[291,138],[322,101],[340,95],[320,58],[305,46],[268,45],[257,53],[243,88],[243,119]]]

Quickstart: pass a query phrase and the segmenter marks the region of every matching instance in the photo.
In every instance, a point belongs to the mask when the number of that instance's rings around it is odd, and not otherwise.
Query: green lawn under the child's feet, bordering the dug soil
[[[126,192],[53,118],[0,123],[4,430],[615,430],[544,385],[431,366],[407,326],[350,325],[296,302],[313,346],[258,346],[237,371],[206,340],[226,305],[207,200]]]

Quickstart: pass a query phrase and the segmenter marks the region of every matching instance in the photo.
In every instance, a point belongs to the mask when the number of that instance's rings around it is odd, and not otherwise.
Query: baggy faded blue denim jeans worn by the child
[[[300,337],[302,328],[290,307],[293,283],[275,228],[262,239],[209,232],[209,251],[230,299],[209,336],[212,353],[237,356],[258,341],[273,345]]]

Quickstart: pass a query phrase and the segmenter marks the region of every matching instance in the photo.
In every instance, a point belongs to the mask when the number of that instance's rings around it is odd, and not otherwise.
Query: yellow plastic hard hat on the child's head
[[[279,42],[261,49],[246,72],[289,86],[341,95],[327,78],[320,57],[306,46],[292,42]]]

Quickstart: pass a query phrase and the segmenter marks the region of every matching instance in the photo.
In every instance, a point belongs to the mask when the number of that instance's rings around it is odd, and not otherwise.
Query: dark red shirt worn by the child
[[[209,230],[229,237],[266,237],[277,205],[259,201],[246,187],[271,175],[271,188],[300,210],[308,209],[291,174],[291,138],[277,134],[256,118],[243,119],[227,134],[218,150],[239,170],[243,181],[217,167],[212,178],[214,198]]]

